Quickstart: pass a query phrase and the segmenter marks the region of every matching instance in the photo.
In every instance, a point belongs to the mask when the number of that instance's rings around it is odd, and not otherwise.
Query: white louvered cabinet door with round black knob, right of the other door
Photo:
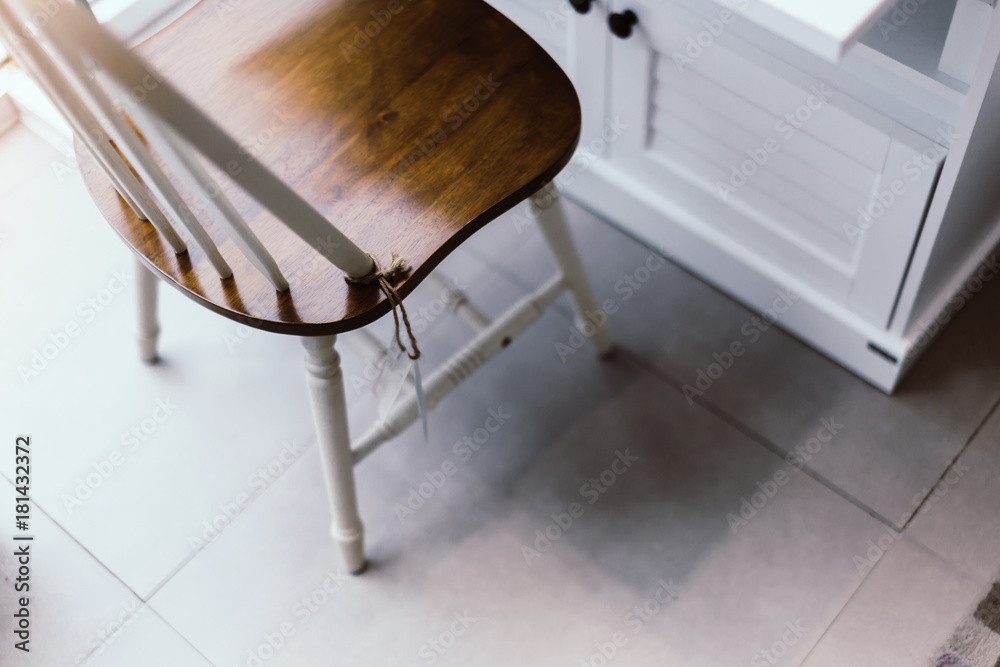
[[[886,326],[945,149],[731,35],[732,13],[628,8],[616,166],[742,261]]]

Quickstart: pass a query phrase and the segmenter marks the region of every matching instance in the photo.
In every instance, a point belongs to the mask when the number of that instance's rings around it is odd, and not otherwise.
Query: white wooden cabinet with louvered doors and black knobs
[[[992,2],[491,1],[565,46],[563,190],[886,391],[1000,240]]]

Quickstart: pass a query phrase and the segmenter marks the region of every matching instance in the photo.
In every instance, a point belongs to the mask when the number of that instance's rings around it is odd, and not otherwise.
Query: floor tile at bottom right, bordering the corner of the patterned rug
[[[987,589],[904,537],[802,665],[930,664]]]

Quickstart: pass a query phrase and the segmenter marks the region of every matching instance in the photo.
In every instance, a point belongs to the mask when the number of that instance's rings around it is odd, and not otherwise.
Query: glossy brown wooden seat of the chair
[[[406,259],[413,270],[397,285],[403,295],[551,181],[580,133],[565,74],[481,0],[203,0],[137,51],[236,138],[246,159],[273,170],[362,249],[381,262]],[[121,106],[127,113],[142,97],[134,89]],[[217,172],[291,289],[276,292],[185,194],[233,268],[220,280],[194,244],[176,255],[87,150],[77,152],[115,231],[208,308],[301,336],[349,331],[389,311],[377,288],[349,285]]]

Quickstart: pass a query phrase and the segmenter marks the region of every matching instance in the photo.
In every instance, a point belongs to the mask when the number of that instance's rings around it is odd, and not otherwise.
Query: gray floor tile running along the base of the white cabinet
[[[754,313],[673,264],[628,287],[625,276],[645,278],[650,251],[568,209],[598,297],[617,307],[616,341],[677,386],[693,386],[714,354],[743,343],[746,353],[701,400],[785,452],[813,438],[821,416],[843,423],[809,466],[897,525],[1000,399],[1000,348],[985,333],[1000,325],[1000,283],[966,306],[890,397],[780,329],[748,336]],[[525,246],[516,261],[542,252]]]

